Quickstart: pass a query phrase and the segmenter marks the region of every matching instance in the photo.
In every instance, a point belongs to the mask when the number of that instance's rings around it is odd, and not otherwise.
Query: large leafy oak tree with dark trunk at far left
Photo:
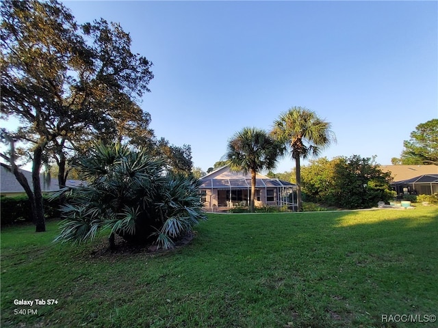
[[[19,122],[1,131],[9,145],[2,165],[29,196],[40,232],[44,161],[56,160],[63,186],[72,151],[86,149],[97,137],[139,142],[153,134],[149,114],[137,105],[149,91],[152,64],[131,52],[131,38],[120,25],[103,19],[78,25],[57,1],[2,1],[0,27],[1,115]],[[26,155],[33,163],[31,186],[17,165]]]

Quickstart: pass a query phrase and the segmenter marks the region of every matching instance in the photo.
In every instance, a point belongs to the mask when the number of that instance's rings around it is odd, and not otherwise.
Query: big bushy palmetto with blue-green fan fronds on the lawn
[[[112,248],[117,234],[131,244],[168,249],[206,218],[198,180],[166,172],[145,150],[99,143],[77,166],[87,185],[58,193],[66,204],[56,241],[81,243],[108,229]]]

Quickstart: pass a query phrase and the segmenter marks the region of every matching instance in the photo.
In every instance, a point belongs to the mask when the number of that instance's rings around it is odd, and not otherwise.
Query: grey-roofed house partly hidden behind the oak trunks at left
[[[24,169],[21,170],[25,177],[27,178],[27,182],[29,182],[29,187],[34,190],[34,187],[32,186],[32,173],[29,171],[25,171]],[[12,172],[8,171],[5,167],[1,166],[0,169],[0,195],[2,196],[16,196],[16,195],[24,195],[25,190],[23,187],[21,187],[21,184],[18,183],[16,180],[14,174]],[[42,174],[40,175],[40,184],[41,184],[41,190],[43,193],[51,193],[53,191],[60,190],[60,187],[57,183],[57,179],[51,178],[50,182],[44,182],[44,178]],[[66,185],[68,187],[78,187],[82,184],[82,181],[80,180],[67,180]]]

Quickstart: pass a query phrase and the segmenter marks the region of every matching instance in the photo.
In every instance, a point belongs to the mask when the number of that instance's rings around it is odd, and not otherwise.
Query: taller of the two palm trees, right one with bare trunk
[[[331,123],[322,120],[314,111],[292,107],[274,121],[271,135],[281,141],[295,159],[298,210],[302,210],[300,159],[318,156],[336,140]]]

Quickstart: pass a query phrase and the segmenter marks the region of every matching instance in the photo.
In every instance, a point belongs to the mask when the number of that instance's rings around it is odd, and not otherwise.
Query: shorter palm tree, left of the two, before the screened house
[[[250,212],[254,212],[255,177],[262,169],[272,169],[283,153],[281,143],[259,128],[243,128],[229,140],[227,160],[233,171],[251,174]]]

